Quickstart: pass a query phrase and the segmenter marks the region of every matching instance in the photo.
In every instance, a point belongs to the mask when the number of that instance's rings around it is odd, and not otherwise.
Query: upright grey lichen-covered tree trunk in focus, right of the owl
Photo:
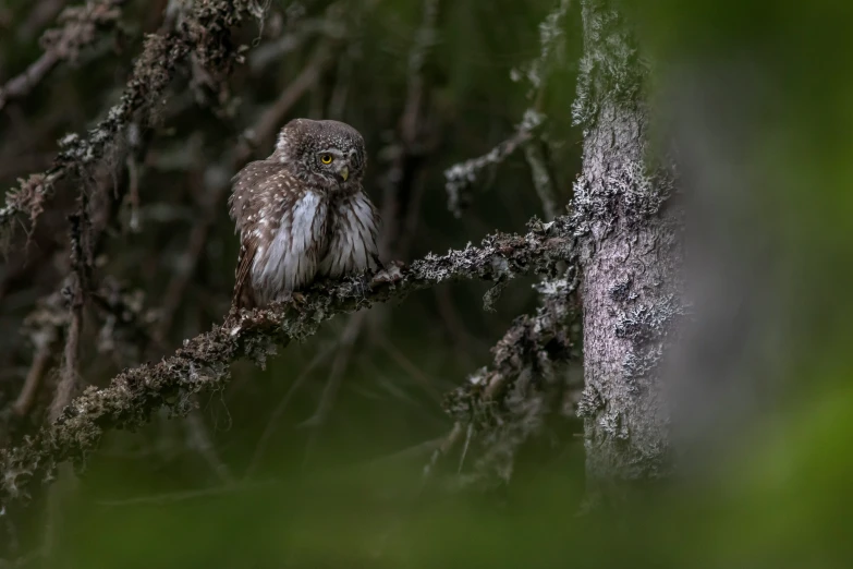
[[[678,225],[667,203],[672,177],[649,144],[647,70],[617,3],[583,1],[584,58],[573,108],[584,126],[573,202],[586,384],[578,415],[593,496],[608,482],[669,470],[659,364],[681,313]]]

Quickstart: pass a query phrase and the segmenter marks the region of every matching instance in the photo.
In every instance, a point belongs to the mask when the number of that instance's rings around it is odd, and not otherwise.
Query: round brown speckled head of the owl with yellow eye
[[[281,129],[276,157],[305,181],[355,185],[364,175],[364,137],[346,123],[294,119]]]

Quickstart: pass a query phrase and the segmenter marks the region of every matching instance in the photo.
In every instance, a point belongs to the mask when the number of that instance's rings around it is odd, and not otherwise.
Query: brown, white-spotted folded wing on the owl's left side
[[[252,289],[252,265],[258,249],[258,223],[269,198],[266,187],[280,166],[268,160],[249,162],[232,179],[233,191],[228,199],[229,214],[240,233],[240,256],[235,273],[232,304],[239,308],[252,308],[255,295]]]

